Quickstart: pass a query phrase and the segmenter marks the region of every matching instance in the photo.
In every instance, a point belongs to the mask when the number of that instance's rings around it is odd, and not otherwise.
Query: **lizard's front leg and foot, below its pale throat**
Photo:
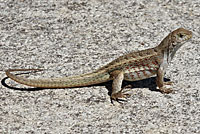
[[[171,88],[164,87],[165,85],[171,85],[173,82],[164,82],[164,68],[160,67],[157,71],[157,77],[156,77],[156,84],[159,87],[159,90],[162,93],[171,93]]]

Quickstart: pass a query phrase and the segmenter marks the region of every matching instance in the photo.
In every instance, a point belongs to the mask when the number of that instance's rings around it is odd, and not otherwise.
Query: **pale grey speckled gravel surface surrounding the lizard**
[[[8,68],[47,69],[32,78],[81,74],[154,47],[176,28],[195,33],[167,69],[175,93],[151,91],[146,80],[128,102],[113,106],[105,85],[39,91],[1,85],[0,133],[200,133],[199,26],[199,0],[0,0],[1,80]]]

